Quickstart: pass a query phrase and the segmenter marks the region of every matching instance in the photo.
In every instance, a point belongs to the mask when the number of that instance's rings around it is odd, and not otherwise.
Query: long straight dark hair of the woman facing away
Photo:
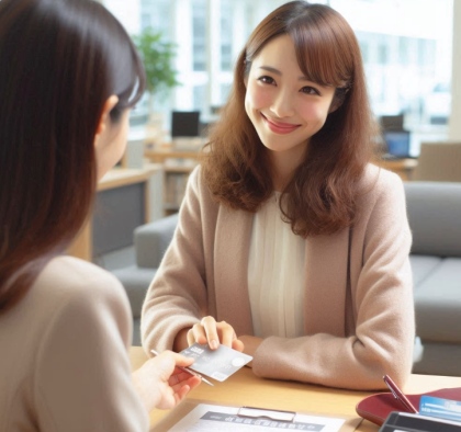
[[[0,311],[82,227],[105,101],[119,96],[117,122],[144,86],[130,36],[98,2],[0,1]]]

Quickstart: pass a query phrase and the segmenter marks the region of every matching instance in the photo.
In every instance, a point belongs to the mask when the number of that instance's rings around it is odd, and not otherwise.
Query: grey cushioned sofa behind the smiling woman
[[[415,181],[404,187],[418,336],[413,372],[461,376],[461,183]],[[172,215],[138,227],[136,264],[114,272],[132,304],[135,344],[143,299],[177,221]]]

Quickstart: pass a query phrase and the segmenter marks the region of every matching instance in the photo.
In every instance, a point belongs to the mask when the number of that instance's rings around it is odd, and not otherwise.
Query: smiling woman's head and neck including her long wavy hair
[[[250,212],[276,186],[296,234],[331,234],[353,220],[357,181],[370,160],[376,129],[352,30],[328,7],[301,2],[297,8],[281,7],[268,15],[240,53],[224,120],[210,135],[203,175],[223,203]],[[280,123],[300,127],[290,136],[271,134],[270,125],[280,128]],[[293,149],[291,162],[286,154],[265,150],[276,140],[272,150]],[[293,145],[303,141],[304,148]]]

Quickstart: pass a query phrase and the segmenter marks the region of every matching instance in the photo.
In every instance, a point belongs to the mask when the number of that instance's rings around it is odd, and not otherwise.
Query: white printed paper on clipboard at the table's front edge
[[[277,432],[282,431],[310,431],[310,432],[338,432],[345,419],[299,414],[293,413],[290,421],[280,420],[286,411],[258,412],[261,417],[243,417],[241,410],[235,407],[223,407],[215,405],[198,405],[182,420],[180,420],[170,431],[172,432]],[[240,412],[240,416],[239,416]],[[255,409],[257,412],[257,409]]]

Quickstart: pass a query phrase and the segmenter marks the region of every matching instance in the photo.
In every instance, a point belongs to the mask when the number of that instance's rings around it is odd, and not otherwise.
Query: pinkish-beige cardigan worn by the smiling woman
[[[265,339],[252,362],[256,375],[351,389],[384,388],[383,374],[400,385],[408,377],[415,322],[403,184],[370,164],[362,191],[350,245],[349,229],[306,240],[305,336]],[[251,221],[252,214],[217,204],[200,167],[194,170],[143,307],[147,352],[171,349],[182,328],[206,315],[229,322],[237,336],[252,334]]]

